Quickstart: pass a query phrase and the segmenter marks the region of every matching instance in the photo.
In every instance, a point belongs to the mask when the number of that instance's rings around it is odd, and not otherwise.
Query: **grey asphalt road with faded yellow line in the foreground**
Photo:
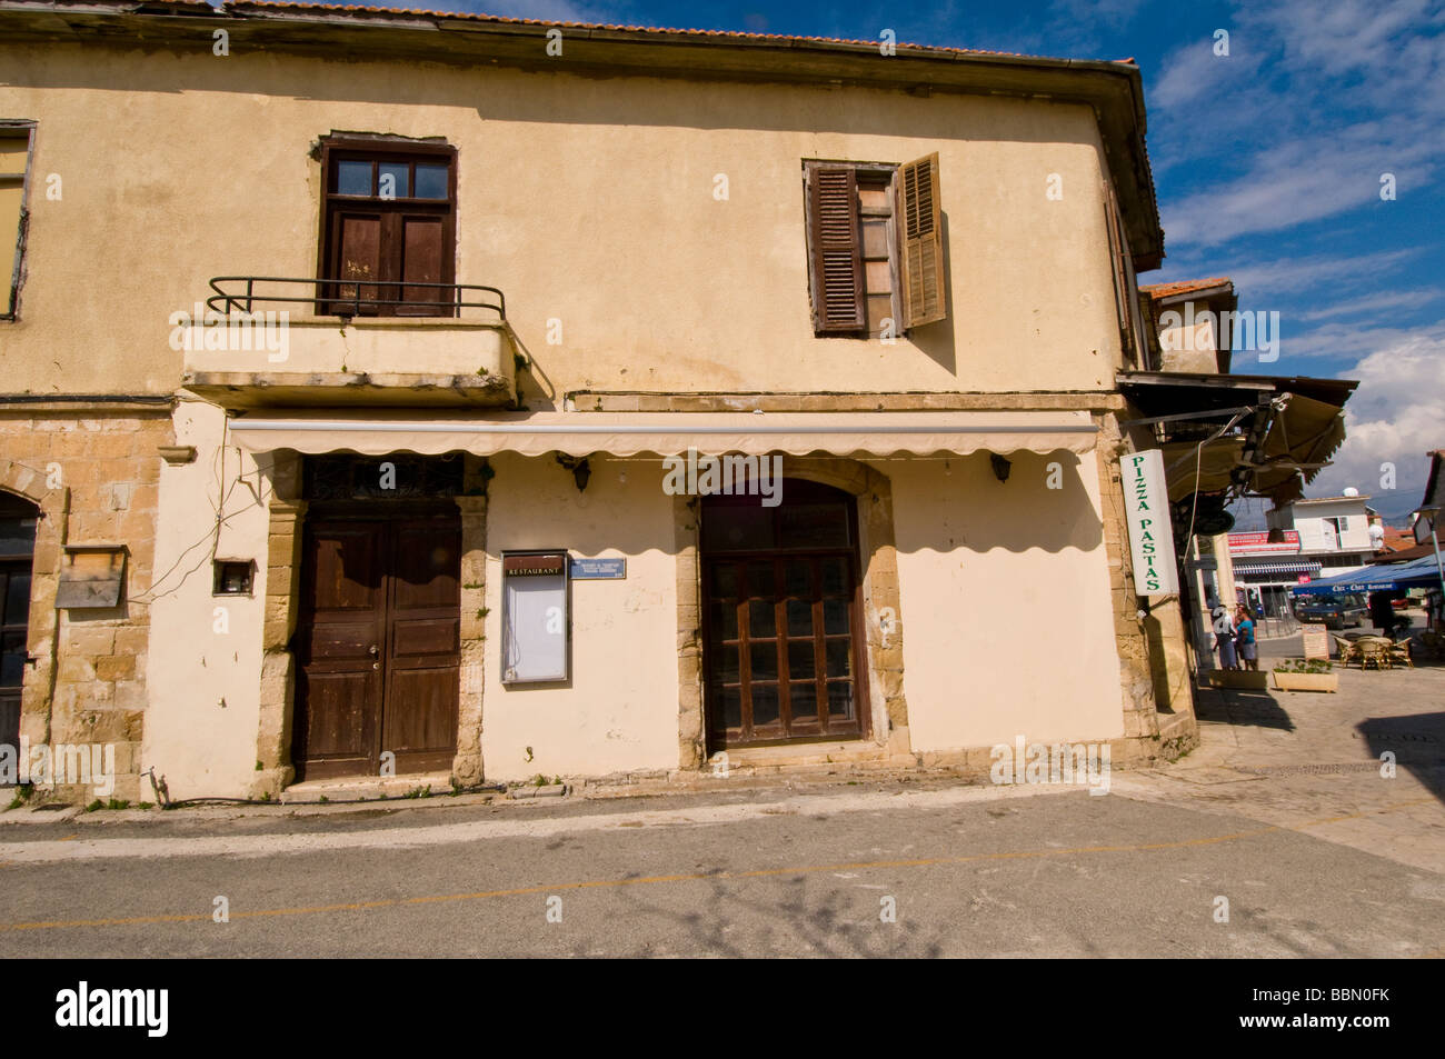
[[[1445,948],[1436,873],[1117,789],[1039,790],[840,783],[579,805],[7,826],[0,955],[1400,956]],[[214,922],[218,897],[230,922]],[[1220,899],[1227,923],[1215,922]],[[890,907],[896,922],[886,922]]]

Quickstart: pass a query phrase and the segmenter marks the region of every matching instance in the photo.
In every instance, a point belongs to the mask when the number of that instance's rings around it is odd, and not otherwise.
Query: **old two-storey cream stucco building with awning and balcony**
[[[1192,738],[1123,539],[1136,65],[289,3],[0,30],[29,740],[188,798]]]

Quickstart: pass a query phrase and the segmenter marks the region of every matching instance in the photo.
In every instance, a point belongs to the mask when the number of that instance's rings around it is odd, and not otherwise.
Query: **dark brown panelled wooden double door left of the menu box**
[[[296,631],[298,779],[449,769],[461,666],[461,519],[309,519]]]

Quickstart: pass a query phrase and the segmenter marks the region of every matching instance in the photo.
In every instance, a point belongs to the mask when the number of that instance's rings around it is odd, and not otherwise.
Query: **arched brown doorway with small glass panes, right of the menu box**
[[[854,498],[801,478],[780,497],[701,503],[709,753],[867,735]]]

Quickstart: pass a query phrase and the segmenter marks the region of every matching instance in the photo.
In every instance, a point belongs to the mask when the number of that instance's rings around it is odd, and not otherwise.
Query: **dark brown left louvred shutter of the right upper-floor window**
[[[814,329],[861,331],[863,254],[858,240],[858,182],[848,168],[818,166],[808,181]]]

